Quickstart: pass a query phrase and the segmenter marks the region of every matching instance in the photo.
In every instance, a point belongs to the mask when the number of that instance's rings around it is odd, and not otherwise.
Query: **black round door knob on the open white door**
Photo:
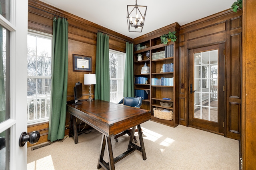
[[[38,131],[33,131],[32,133],[30,133],[30,135],[27,135],[26,132],[23,132],[20,135],[19,145],[20,147],[23,147],[26,142],[35,144],[38,142],[39,138],[40,138],[40,133]]]

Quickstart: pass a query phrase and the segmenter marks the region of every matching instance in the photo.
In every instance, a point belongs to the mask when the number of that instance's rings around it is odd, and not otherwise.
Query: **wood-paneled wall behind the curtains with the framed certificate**
[[[83,82],[84,74],[88,73],[73,71],[73,54],[92,57],[92,73],[95,73],[96,39],[98,31],[109,35],[109,48],[116,51],[121,51],[125,53],[126,42],[133,42],[133,39],[121,35],[120,33],[74,16],[73,14],[60,10],[38,0],[28,0],[28,29],[52,34],[52,20],[54,15],[44,12],[42,10],[68,19],[68,101],[74,100],[74,84],[78,81]],[[89,86],[84,85],[82,99],[88,99],[88,93]],[[94,94],[94,85],[92,85],[92,93]],[[67,113],[66,125],[69,125],[69,117],[70,115]],[[80,123],[80,121],[78,123]],[[47,141],[48,125],[44,124],[38,125],[37,127],[29,127],[28,133],[34,130],[43,130],[42,135],[46,136],[41,137],[38,143]]]

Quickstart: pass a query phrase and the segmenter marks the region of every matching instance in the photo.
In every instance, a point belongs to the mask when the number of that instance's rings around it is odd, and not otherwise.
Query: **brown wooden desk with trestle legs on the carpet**
[[[78,143],[77,127],[76,123],[74,123],[75,117],[88,123],[94,129],[102,133],[102,144],[97,169],[103,166],[107,170],[114,170],[114,164],[116,162],[135,150],[142,152],[142,158],[146,160],[140,124],[150,120],[150,111],[102,100],[94,100],[93,102],[84,101],[81,105],[68,104],[67,111],[71,114],[70,127],[73,125],[75,143]],[[132,143],[136,126],[140,139],[140,147]],[[128,144],[128,150],[114,158],[110,137],[130,128],[132,128],[132,135]],[[108,150],[108,163],[103,160],[105,147],[107,147]]]

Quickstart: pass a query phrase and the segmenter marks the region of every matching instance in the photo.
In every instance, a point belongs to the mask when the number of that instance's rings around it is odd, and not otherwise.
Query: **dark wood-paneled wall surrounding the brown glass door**
[[[180,27],[180,124],[188,126],[188,50],[225,43],[226,137],[240,139],[242,11],[226,10]],[[181,88],[184,87],[184,88]]]

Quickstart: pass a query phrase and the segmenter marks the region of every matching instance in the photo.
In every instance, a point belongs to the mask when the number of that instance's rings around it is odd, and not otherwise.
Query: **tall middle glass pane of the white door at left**
[[[9,119],[9,39],[10,32],[0,25],[0,123]]]

